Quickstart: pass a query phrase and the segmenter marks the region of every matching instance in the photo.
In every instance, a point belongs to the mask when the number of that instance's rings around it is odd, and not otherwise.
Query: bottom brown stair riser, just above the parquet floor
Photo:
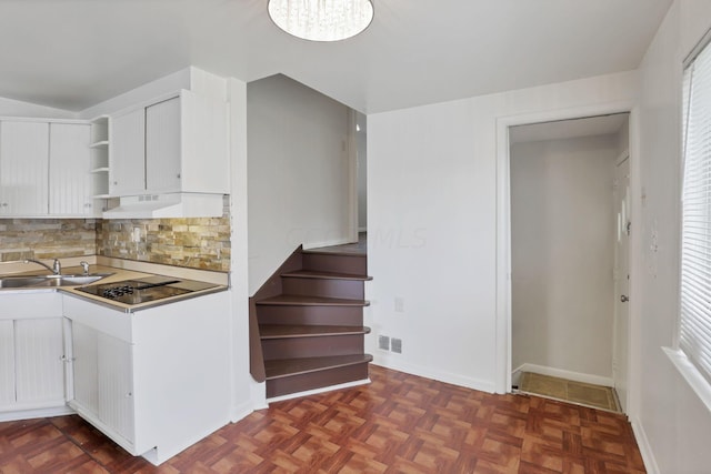
[[[329,369],[301,375],[267,381],[267,397],[304,392],[307,390],[322,389],[324,386],[341,383],[357,382],[368,379],[368,363],[349,365],[346,367]]]

